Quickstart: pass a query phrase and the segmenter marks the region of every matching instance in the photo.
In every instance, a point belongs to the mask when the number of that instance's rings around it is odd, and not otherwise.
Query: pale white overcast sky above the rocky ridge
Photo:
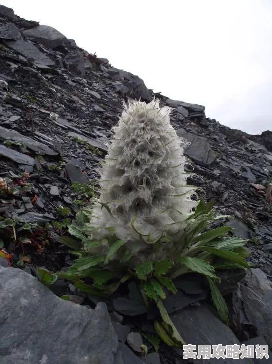
[[[272,130],[271,0],[0,0],[154,92],[206,106],[250,134]]]

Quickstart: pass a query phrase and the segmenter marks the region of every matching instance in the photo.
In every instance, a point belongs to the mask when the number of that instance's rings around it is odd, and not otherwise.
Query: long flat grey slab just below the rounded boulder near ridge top
[[[6,42],[6,45],[21,53],[23,56],[32,59],[34,62],[41,63],[46,66],[55,65],[54,61],[39,51],[39,49],[30,41],[18,39],[17,41]]]

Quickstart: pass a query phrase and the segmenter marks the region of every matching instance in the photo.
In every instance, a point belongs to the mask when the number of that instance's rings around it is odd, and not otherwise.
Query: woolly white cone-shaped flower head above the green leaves
[[[102,171],[98,170],[101,194],[90,207],[90,225],[97,228],[91,236],[101,239],[109,235],[106,228],[115,227],[115,235],[125,239],[126,248],[141,261],[150,251],[148,237],[180,239],[186,226],[181,221],[198,202],[191,198],[196,187],[186,185],[190,175],[184,172],[189,163],[183,155],[186,142],[170,124],[171,108],[160,108],[155,99],[124,106],[112,128],[114,138]],[[99,203],[108,203],[112,214]]]

